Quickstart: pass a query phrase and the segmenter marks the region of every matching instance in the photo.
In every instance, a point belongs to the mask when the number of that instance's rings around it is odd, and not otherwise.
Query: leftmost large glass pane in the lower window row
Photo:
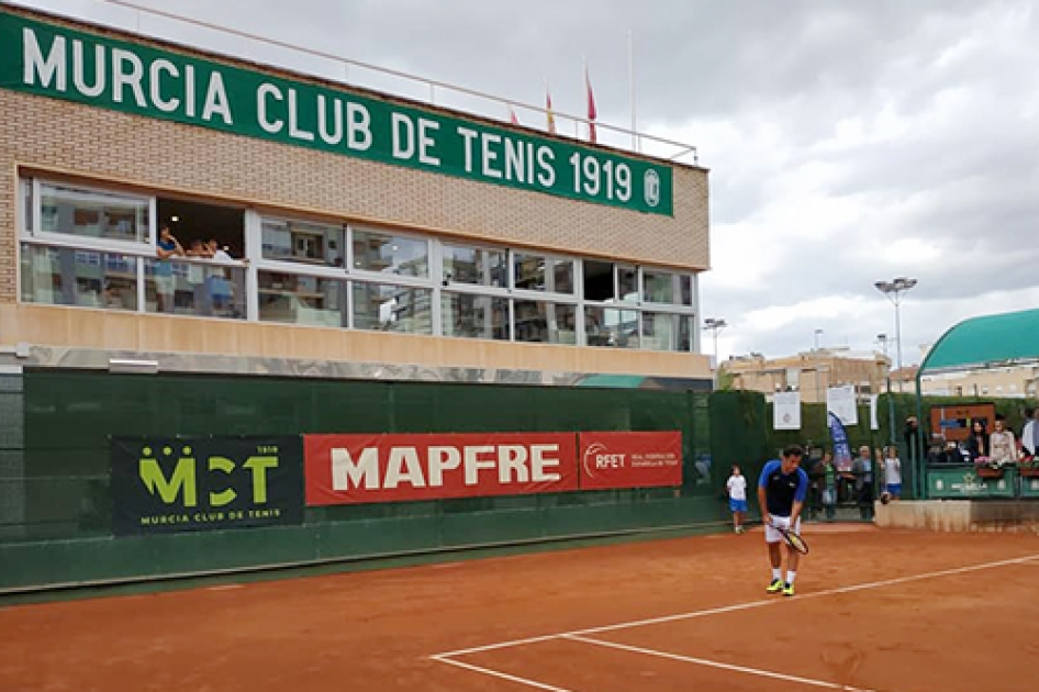
[[[22,243],[22,300],[109,310],[137,309],[131,255]]]

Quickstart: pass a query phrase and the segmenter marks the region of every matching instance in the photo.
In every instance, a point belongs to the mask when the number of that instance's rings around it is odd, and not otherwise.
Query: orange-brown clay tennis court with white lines
[[[0,610],[0,690],[1032,691],[1039,538],[760,529]]]

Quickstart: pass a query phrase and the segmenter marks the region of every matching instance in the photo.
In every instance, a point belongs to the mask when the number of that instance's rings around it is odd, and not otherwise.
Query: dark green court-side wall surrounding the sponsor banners
[[[205,573],[725,520],[708,395],[26,370],[3,376],[0,590]],[[18,428],[18,429],[15,429]],[[308,509],[290,527],[113,538],[109,437],[681,429],[680,489]],[[697,464],[699,461],[699,464]]]

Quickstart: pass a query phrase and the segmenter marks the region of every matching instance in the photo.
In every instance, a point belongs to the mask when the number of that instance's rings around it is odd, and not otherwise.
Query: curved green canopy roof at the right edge
[[[920,373],[1039,360],[1039,310],[971,317],[946,332]]]

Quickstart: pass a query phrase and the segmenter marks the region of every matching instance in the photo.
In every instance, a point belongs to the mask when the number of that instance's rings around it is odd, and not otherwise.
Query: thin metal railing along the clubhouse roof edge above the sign
[[[277,38],[271,38],[269,36],[262,36],[259,34],[254,34],[250,32],[242,31],[238,29],[233,29],[230,26],[223,26],[221,24],[215,24],[213,22],[206,22],[203,20],[194,19],[191,16],[185,16],[182,14],[177,14],[175,12],[168,12],[166,10],[160,10],[156,8],[144,7],[136,4],[134,2],[127,2],[126,0],[97,0],[98,2],[110,4],[114,7],[120,7],[126,10],[136,12],[136,25],[132,30],[134,33],[142,34],[141,29],[141,18],[143,15],[153,15],[161,18],[165,20],[170,20],[172,22],[182,23],[190,26],[195,26],[199,29],[204,29],[212,32],[217,32],[225,36],[235,36],[238,38],[244,38],[248,42],[255,42],[257,44],[262,44],[270,47],[281,48],[297,53],[300,55],[305,55],[310,57],[321,58],[322,60],[328,60],[334,63],[343,68],[342,75],[331,75],[331,74],[321,74],[315,76],[322,79],[329,79],[333,81],[338,81],[347,87],[359,87],[365,89],[371,89],[375,91],[381,91],[390,96],[406,98],[414,101],[425,102],[431,105],[436,105],[439,108],[449,108],[453,110],[461,111],[465,113],[480,115],[482,118],[488,118],[491,120],[502,121],[509,123],[510,121],[505,118],[509,110],[514,110],[517,114],[534,114],[536,118],[539,118],[545,123],[545,127],[533,127],[529,125],[521,124],[514,125],[527,130],[535,130],[538,132],[547,132],[547,123],[549,112],[551,113],[555,121],[558,123],[556,129],[556,134],[558,136],[570,137],[569,134],[570,125],[572,125],[573,134],[572,138],[581,139],[582,132],[586,133],[589,124],[592,122],[588,118],[582,115],[576,115],[573,113],[567,113],[562,111],[557,111],[552,109],[549,111],[546,108],[540,105],[534,105],[530,103],[523,103],[514,99],[506,99],[503,97],[494,96],[483,91],[478,91],[476,89],[469,89],[466,87],[458,87],[455,85],[449,85],[447,82],[438,81],[435,79],[426,79],[424,77],[418,77],[402,70],[390,69],[386,67],[379,67],[378,65],[372,65],[370,63],[364,63],[360,60],[355,60],[351,58],[346,58],[326,51],[319,51],[314,48],[308,48],[303,46],[298,46],[286,41],[279,41]],[[10,2],[9,0],[0,0],[2,4],[10,4],[14,7],[25,7],[25,9],[34,9],[27,5],[21,5],[18,2]],[[124,30],[131,31],[127,27]],[[164,36],[156,35],[155,37],[169,40]],[[224,51],[220,48],[204,48],[217,53],[227,55]],[[227,55],[231,59],[241,58],[242,56]],[[293,69],[297,71],[306,71],[306,72],[316,72],[313,67],[300,68],[292,67],[290,65],[277,64],[271,62],[269,55],[262,56],[262,58],[256,58],[257,62],[262,62],[265,64],[277,65],[278,67],[284,69]],[[361,74],[358,74],[361,72]],[[375,76],[376,79],[369,83],[364,83],[361,76],[364,72],[367,72],[369,77]],[[390,78],[389,80],[387,78]],[[381,80],[380,80],[381,79]],[[395,80],[395,83],[394,81]],[[411,89],[401,89],[400,82],[407,85]],[[417,87],[416,90],[414,87]],[[494,108],[489,108],[493,105]],[[628,127],[622,127],[617,125],[611,125],[610,123],[604,123],[599,120],[594,121],[595,129],[599,133],[596,141],[599,144],[614,147],[622,150],[635,152],[646,156],[651,156],[653,158],[660,158],[664,160],[670,160],[680,164],[691,164],[697,166],[700,164],[700,156],[695,146],[690,145],[684,142],[678,142],[675,139],[669,139],[666,137],[660,137],[657,135],[651,135],[645,132],[638,132]]]

